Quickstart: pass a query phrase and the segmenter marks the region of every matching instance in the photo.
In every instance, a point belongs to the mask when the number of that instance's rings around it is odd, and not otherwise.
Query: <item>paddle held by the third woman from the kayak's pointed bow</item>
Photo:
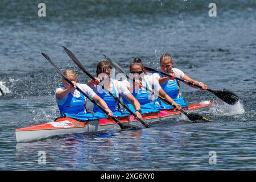
[[[105,56],[105,55],[103,55]],[[105,59],[109,61],[110,64],[113,65],[113,67],[115,67],[116,69],[118,69],[119,72],[125,74],[125,76],[128,79],[134,80],[134,78],[130,78],[128,75],[126,75],[125,71],[123,71],[123,69],[121,67],[119,67],[119,65],[117,63],[115,63],[115,61],[113,61],[112,59],[110,59],[109,57],[105,56]],[[143,88],[146,88],[145,86]],[[151,93],[154,93],[151,89],[146,88],[148,91],[150,91]],[[171,106],[173,106],[174,108],[176,108],[176,106],[174,104],[172,104],[171,102],[167,101],[164,97],[160,96],[159,94],[154,93],[156,96],[158,96],[160,99],[162,99],[164,102],[167,102],[167,104],[170,104]],[[185,114],[188,119],[190,119],[191,121],[197,121],[197,120],[201,120],[201,121],[212,121],[212,119],[209,119],[207,117],[205,117],[204,115],[200,115],[197,113],[188,113],[186,111],[184,111],[183,109],[180,109],[181,113]]]

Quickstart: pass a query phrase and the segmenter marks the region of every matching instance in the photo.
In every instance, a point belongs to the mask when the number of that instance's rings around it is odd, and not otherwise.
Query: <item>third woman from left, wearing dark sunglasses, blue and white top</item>
[[[142,114],[159,111],[155,105],[155,100],[157,98],[155,94],[159,94],[167,101],[174,104],[177,109],[181,109],[181,106],[179,104],[176,104],[172,100],[172,98],[164,92],[155,77],[146,75],[144,65],[141,59],[135,58],[133,61],[131,61],[129,77],[131,79],[123,80],[123,84],[125,84],[127,88],[129,88],[131,94],[133,94],[133,96],[141,104]],[[135,79],[135,81],[132,80],[133,78]],[[150,92],[150,90],[153,91],[155,94]],[[123,101],[127,103],[125,98],[123,98]],[[128,104],[128,106],[130,107],[130,104]],[[130,109],[132,110],[133,108],[130,107]]]

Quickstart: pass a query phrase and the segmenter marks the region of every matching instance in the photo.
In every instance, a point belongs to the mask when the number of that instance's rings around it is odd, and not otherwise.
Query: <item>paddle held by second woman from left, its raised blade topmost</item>
[[[73,60],[73,62],[82,70],[82,72],[84,72],[87,76],[89,76],[90,78],[92,78],[92,80],[96,81],[96,79],[95,79],[92,75],[90,75],[90,73],[89,73],[88,71],[86,71],[84,65],[82,65],[82,63],[76,58],[76,56],[75,56],[68,48],[66,48],[66,47],[64,47],[64,46],[63,46],[63,48],[64,48],[64,51],[67,53],[67,55]],[[111,93],[108,89],[106,89],[106,88],[104,87],[104,85],[100,84],[100,86],[102,86],[102,88],[105,89],[105,90],[110,94],[110,96],[112,96],[112,97],[113,97],[116,101],[118,101],[123,107],[125,107],[125,109],[126,109],[127,111],[129,111],[131,114],[133,114],[133,116],[134,116],[135,118],[137,117],[137,115],[136,115],[133,111],[131,111],[131,110],[129,109],[129,107],[127,107],[125,104],[123,104],[123,102],[122,102],[121,100],[119,100],[119,98],[115,97],[113,93]],[[141,122],[144,127],[150,127],[150,125],[148,125],[148,123],[144,122],[142,119],[137,119],[137,120],[138,120],[139,122]]]

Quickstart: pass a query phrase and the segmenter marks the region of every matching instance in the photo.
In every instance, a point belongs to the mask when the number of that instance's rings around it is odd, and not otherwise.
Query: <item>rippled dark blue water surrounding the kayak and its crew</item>
[[[256,3],[215,1],[41,1],[0,2],[0,169],[6,170],[212,170],[256,169]],[[54,100],[61,77],[40,54],[60,68],[75,68],[61,46],[70,48],[95,75],[102,54],[128,70],[135,56],[159,68],[169,52],[175,67],[212,89],[240,96],[228,106],[217,100],[201,111],[211,123],[183,116],[139,131],[105,131],[16,143],[14,129],[58,116]],[[88,77],[79,72],[80,82]],[[209,92],[182,85],[188,102],[216,100]],[[92,105],[89,103],[89,109]],[[46,164],[38,164],[38,152]],[[217,155],[209,164],[209,152]]]

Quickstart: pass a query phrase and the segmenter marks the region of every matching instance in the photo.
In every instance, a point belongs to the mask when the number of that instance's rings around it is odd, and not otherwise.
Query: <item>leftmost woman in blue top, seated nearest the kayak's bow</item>
[[[55,92],[56,102],[59,107],[61,117],[71,117],[81,121],[97,119],[86,110],[86,97],[76,89],[76,86],[104,107],[104,109],[108,111],[109,116],[113,115],[106,102],[97,96],[97,94],[94,93],[88,85],[77,83],[79,80],[75,71],[72,69],[66,69],[64,71],[64,75],[73,82],[75,87],[70,85],[63,78],[63,86],[58,88]]]

